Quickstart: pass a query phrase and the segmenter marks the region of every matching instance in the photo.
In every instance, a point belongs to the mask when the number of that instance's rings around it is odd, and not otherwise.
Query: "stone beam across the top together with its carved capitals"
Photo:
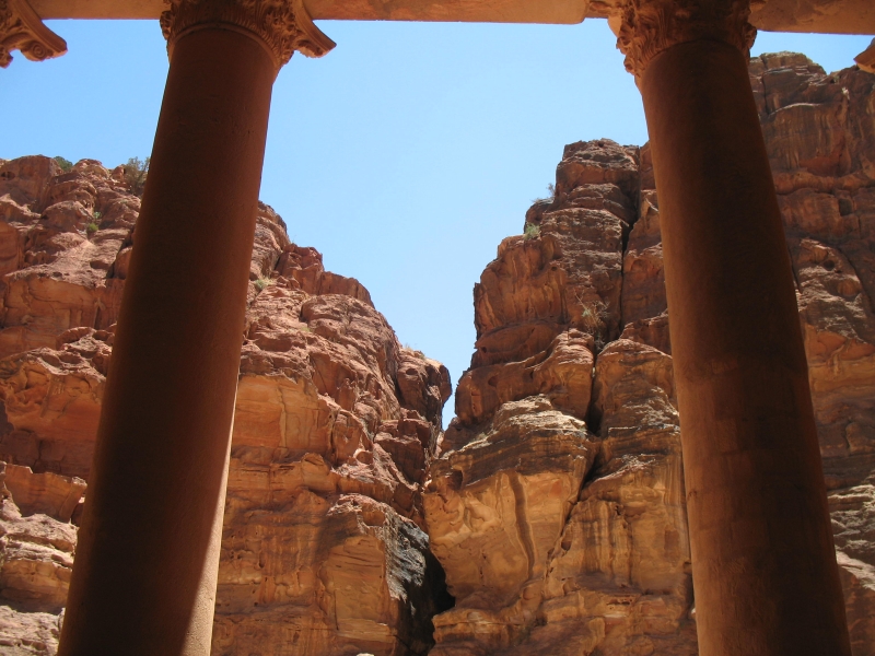
[[[36,60],[66,52],[63,39],[43,26],[42,20],[161,17],[166,34],[167,24],[179,22],[174,14],[189,4],[197,9],[186,10],[186,14],[191,11],[200,15],[209,8],[221,14],[220,22],[258,34],[273,52],[278,68],[294,50],[320,57],[334,47],[313,20],[573,24],[586,17],[608,19],[615,33],[619,33],[621,23],[630,23],[621,49],[627,54],[627,69],[637,77],[640,72],[633,69],[638,65],[630,57],[646,65],[654,52],[668,45],[699,38],[689,37],[688,33],[701,34],[703,24],[713,20],[723,22],[725,30],[715,30],[707,37],[727,40],[743,50],[749,47],[755,27],[771,32],[875,33],[875,3],[871,0],[0,0],[0,68],[9,66],[10,51],[16,48]],[[724,10],[725,15],[721,15]],[[171,17],[166,19],[168,11]],[[240,17],[249,14],[254,17]],[[190,26],[201,20],[202,15],[184,22]],[[642,34],[642,27],[646,31],[654,26],[668,36],[654,40]],[[864,62],[864,70],[870,70],[866,66],[872,65]]]

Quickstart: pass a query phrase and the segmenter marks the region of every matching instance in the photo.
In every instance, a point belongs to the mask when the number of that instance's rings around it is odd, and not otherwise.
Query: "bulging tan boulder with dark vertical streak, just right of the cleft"
[[[476,632],[500,647],[526,629],[596,450],[583,421],[533,396],[504,403],[482,433],[432,464],[432,552],[457,600],[436,624],[441,642]]]

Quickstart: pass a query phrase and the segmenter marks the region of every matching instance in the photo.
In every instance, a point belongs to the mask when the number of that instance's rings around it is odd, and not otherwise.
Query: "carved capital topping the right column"
[[[722,40],[747,57],[757,36],[749,15],[750,0],[628,0],[610,22],[626,70],[640,79],[660,52],[691,40]]]

